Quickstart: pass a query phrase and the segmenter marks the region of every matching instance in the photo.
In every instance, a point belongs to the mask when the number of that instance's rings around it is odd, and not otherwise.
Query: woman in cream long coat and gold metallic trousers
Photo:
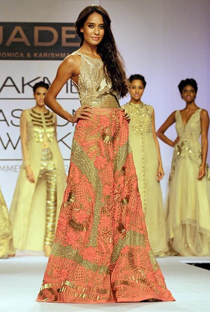
[[[14,247],[43,251],[49,256],[56,220],[66,186],[66,174],[56,134],[56,115],[45,108],[48,85],[34,86],[36,106],[23,110],[20,137],[23,164],[18,176],[9,217]]]

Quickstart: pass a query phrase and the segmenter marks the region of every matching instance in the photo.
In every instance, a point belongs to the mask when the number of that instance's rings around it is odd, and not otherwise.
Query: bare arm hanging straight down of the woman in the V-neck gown
[[[208,111],[202,109],[201,111],[201,151],[202,151],[202,163],[199,168],[198,179],[202,179],[206,175],[206,161],[208,153],[208,130],[209,130],[210,118]]]

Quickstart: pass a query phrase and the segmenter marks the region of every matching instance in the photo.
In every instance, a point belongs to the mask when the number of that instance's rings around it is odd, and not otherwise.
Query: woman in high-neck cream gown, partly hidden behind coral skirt
[[[138,189],[151,247],[156,256],[168,251],[160,180],[164,176],[155,131],[154,108],[141,102],[146,86],[142,75],[129,77],[130,102],[123,106],[130,116],[129,141],[138,177]]]

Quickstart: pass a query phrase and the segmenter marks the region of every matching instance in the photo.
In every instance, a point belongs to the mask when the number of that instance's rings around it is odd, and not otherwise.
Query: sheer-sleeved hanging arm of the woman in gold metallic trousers
[[[23,167],[26,170],[26,177],[31,182],[35,182],[34,173],[31,168],[30,155],[28,150],[28,138],[27,138],[27,119],[26,111],[23,110],[20,116],[20,140],[23,156]]]

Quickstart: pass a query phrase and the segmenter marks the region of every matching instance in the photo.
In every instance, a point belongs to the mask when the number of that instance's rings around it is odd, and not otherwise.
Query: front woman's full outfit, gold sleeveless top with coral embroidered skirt
[[[76,125],[55,242],[37,300],[172,301],[149,244],[118,94],[102,60],[78,54],[76,87],[93,114]]]

